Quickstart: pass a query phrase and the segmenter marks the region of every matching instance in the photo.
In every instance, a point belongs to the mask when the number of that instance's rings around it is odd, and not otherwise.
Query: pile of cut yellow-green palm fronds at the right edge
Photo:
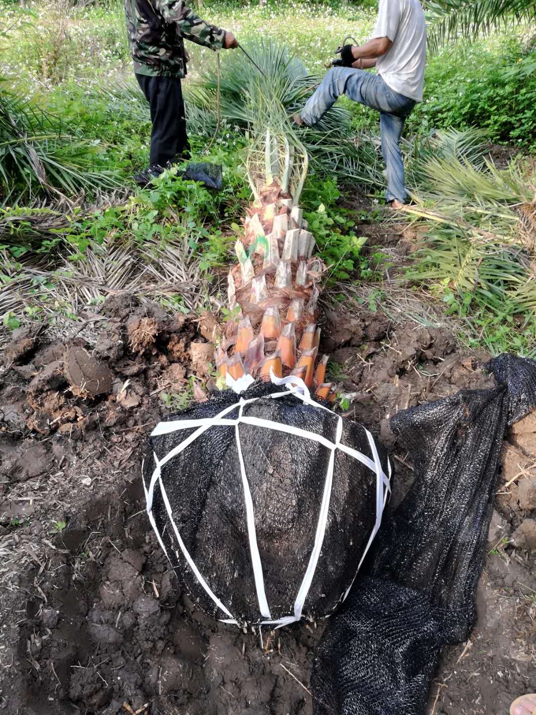
[[[514,325],[520,315],[534,322],[535,242],[523,236],[519,210],[533,205],[531,169],[522,162],[497,169],[475,132],[438,134],[410,148],[417,183],[406,212],[421,237],[411,280],[440,293],[463,320],[484,315],[482,330]]]

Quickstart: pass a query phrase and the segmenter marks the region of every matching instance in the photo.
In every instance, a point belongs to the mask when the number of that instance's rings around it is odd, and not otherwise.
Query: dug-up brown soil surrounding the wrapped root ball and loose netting
[[[114,297],[94,337],[15,335],[0,373],[0,703],[10,715],[311,715],[322,623],[242,633],[212,621],[170,571],[144,511],[142,449],[189,378],[205,380],[214,322]],[[322,350],[347,416],[390,450],[392,506],[412,480],[389,416],[492,384],[487,355],[445,330],[327,311]],[[210,383],[209,383],[210,387]],[[162,400],[163,395],[166,395]],[[435,715],[502,714],[535,690],[536,423],[505,442],[470,641],[446,651]]]

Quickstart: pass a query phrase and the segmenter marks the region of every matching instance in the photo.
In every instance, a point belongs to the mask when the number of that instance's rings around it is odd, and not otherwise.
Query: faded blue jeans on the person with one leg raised
[[[400,153],[400,137],[406,117],[415,101],[389,88],[379,74],[352,67],[334,67],[327,72],[317,91],[309,98],[300,116],[312,127],[322,119],[341,94],[379,111],[382,134],[382,154],[387,166],[387,201],[405,203],[404,164]]]

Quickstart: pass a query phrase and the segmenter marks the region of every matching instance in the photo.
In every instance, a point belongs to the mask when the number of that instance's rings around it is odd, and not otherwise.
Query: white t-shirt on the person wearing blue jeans
[[[372,37],[388,37],[391,48],[376,61],[378,74],[394,92],[422,102],[426,23],[418,0],[379,0]]]

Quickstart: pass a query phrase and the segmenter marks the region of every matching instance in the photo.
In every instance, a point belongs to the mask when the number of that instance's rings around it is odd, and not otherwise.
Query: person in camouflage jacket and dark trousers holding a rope
[[[137,174],[147,184],[163,167],[189,158],[181,79],[187,74],[184,39],[210,49],[237,47],[232,32],[209,24],[182,0],[124,0],[134,72],[151,107],[149,169]]]

